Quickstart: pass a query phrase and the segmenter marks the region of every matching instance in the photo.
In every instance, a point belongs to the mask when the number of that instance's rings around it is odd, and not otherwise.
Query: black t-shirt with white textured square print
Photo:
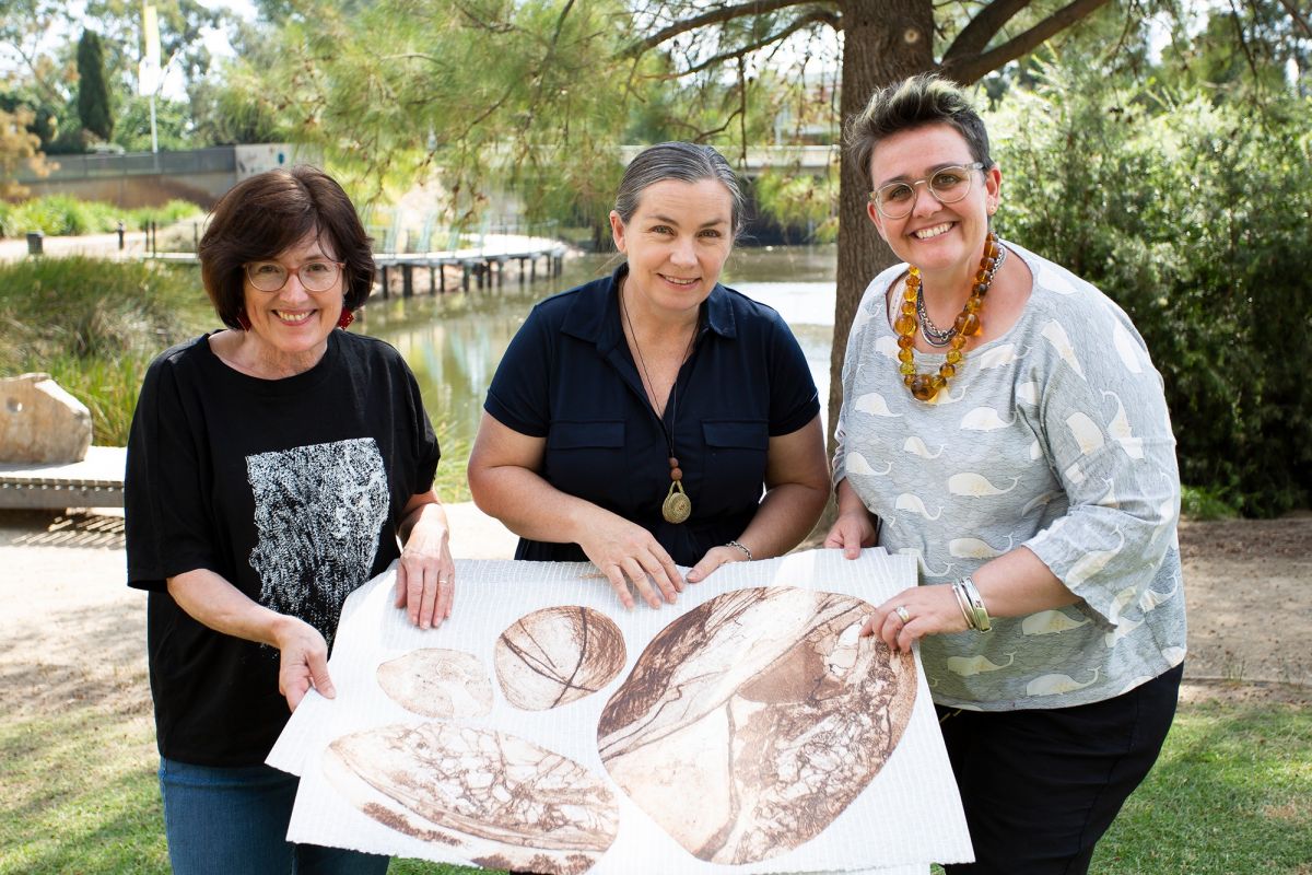
[[[163,756],[255,765],[289,716],[278,651],[194,621],[165,579],[210,569],[331,645],[346,596],[399,555],[401,510],[438,455],[413,374],[378,340],[335,331],[318,365],[277,380],[232,370],[207,336],[151,363],[125,505]]]

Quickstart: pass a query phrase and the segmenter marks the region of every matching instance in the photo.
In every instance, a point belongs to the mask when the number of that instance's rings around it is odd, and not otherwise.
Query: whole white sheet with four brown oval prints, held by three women
[[[337,699],[308,697],[269,757],[302,774],[289,838],[560,875],[967,859],[916,659],[858,638],[869,581],[909,563],[825,580],[804,556],[628,613],[589,565],[461,563],[430,634],[374,581],[342,613]]]

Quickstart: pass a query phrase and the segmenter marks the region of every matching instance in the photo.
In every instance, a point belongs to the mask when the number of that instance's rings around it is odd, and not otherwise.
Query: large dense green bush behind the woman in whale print
[[[1115,299],[1166,384],[1181,478],[1245,514],[1312,497],[1312,100],[1253,117],[1072,59],[991,130],[1004,236]]]

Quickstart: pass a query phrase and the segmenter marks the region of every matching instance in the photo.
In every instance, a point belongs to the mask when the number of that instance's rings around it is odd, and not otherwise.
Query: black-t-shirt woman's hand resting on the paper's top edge
[[[401,517],[405,548],[396,563],[396,607],[407,609],[420,628],[442,624],[455,600],[455,560],[451,559],[446,512],[437,496],[411,499]]]

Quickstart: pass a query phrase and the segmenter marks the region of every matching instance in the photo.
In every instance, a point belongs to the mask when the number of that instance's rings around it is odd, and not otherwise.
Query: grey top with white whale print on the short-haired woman
[[[1128,316],[1021,247],[1034,289],[1004,336],[966,356],[933,403],[903,386],[886,293],[866,289],[848,341],[834,483],[883,525],[879,543],[947,584],[1018,547],[1081,602],[930,635],[934,701],[981,711],[1119,695],[1185,657],[1179,474],[1162,380]],[[984,317],[988,317],[985,304]],[[916,354],[937,371],[942,354]]]

